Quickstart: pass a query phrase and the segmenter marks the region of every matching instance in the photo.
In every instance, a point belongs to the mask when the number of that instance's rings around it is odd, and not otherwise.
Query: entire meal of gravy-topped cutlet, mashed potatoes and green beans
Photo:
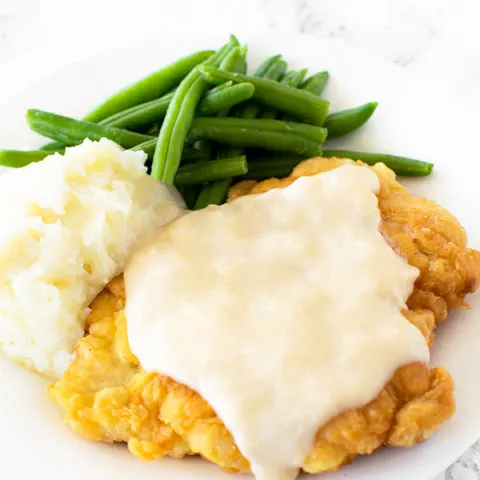
[[[249,75],[231,36],[83,119],[28,110],[53,142],[0,151],[0,351],[74,431],[292,480],[453,415],[429,349],[480,252],[397,182],[432,163],[329,148],[377,102],[330,113],[328,79]]]

